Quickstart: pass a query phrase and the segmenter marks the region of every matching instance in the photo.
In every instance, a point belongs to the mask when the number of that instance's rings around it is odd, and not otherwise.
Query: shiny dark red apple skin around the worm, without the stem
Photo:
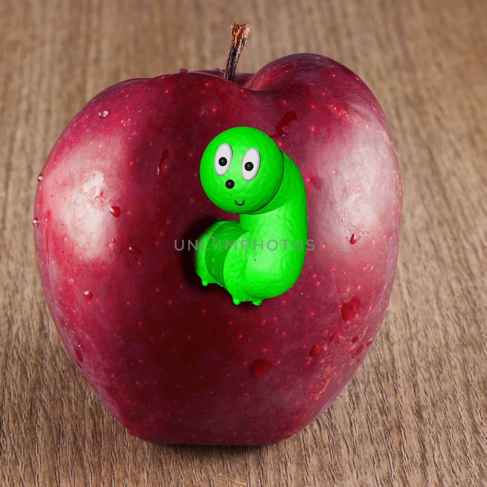
[[[315,246],[295,285],[261,306],[202,286],[187,249],[214,217],[237,218],[199,178],[206,145],[236,126],[272,136],[299,167]],[[233,82],[199,71],[118,83],[75,115],[39,179],[51,315],[132,435],[281,442],[325,412],[367,355],[393,286],[401,181],[377,100],[338,62],[306,53]]]

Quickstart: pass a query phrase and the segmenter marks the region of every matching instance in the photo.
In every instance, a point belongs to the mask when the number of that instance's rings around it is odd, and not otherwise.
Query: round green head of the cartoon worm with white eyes
[[[281,186],[284,156],[264,132],[234,127],[219,133],[201,158],[200,178],[208,198],[231,213],[266,206]]]

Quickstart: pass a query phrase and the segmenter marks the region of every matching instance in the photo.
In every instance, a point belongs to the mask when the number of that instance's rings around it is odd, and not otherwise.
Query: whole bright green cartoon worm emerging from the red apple
[[[195,270],[235,304],[274,298],[298,279],[306,253],[306,192],[299,169],[264,132],[235,127],[206,147],[200,178],[208,198],[240,221],[216,219],[198,238]]]

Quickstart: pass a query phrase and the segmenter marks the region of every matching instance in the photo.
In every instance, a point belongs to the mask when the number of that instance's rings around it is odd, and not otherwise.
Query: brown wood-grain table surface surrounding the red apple
[[[127,434],[65,353],[34,252],[36,176],[123,79],[292,53],[337,59],[393,133],[404,196],[386,319],[343,397],[273,447]],[[487,485],[487,4],[482,0],[0,2],[0,485]]]

